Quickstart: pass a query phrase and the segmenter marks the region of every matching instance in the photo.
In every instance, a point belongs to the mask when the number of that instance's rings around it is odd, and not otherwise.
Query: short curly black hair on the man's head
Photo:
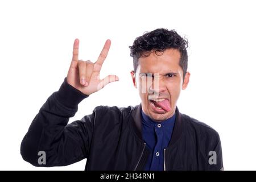
[[[183,69],[184,80],[188,68],[187,47],[187,39],[181,38],[175,30],[158,28],[151,32],[146,32],[134,40],[133,46],[129,46],[131,49],[130,55],[133,57],[134,71],[136,72],[137,70],[139,57],[147,57],[152,51],[159,55],[168,48],[174,48],[180,52],[179,65]]]

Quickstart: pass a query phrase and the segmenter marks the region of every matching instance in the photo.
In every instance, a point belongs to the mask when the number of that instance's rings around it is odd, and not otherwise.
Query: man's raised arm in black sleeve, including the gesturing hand
[[[22,140],[20,154],[34,166],[66,166],[88,157],[94,113],[68,124],[79,103],[106,84],[117,81],[114,75],[100,79],[100,70],[110,48],[107,40],[95,63],[78,60],[79,40],[73,46],[68,76],[59,91],[41,107]]]

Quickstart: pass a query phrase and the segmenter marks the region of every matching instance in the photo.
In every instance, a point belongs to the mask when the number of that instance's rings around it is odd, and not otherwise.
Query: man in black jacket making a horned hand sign
[[[68,124],[78,104],[118,81],[100,79],[110,40],[98,60],[79,60],[79,40],[67,78],[42,106],[20,152],[34,166],[66,166],[87,159],[86,170],[220,170],[221,142],[211,127],[181,114],[176,103],[187,88],[187,41],[174,30],[156,29],[131,46],[131,78],[141,97],[135,107],[98,106]],[[89,99],[89,98],[88,98]]]

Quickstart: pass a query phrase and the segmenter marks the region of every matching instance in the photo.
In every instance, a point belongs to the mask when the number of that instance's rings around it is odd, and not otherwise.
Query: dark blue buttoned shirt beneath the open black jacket
[[[148,115],[142,114],[142,138],[150,149],[147,164],[144,170],[163,171],[164,148],[167,148],[174,129],[175,114],[162,122],[156,122]]]

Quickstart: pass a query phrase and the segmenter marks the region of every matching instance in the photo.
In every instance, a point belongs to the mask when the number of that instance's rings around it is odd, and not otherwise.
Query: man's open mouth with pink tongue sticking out
[[[152,109],[157,112],[165,113],[171,110],[170,101],[166,98],[158,98],[149,101]]]

